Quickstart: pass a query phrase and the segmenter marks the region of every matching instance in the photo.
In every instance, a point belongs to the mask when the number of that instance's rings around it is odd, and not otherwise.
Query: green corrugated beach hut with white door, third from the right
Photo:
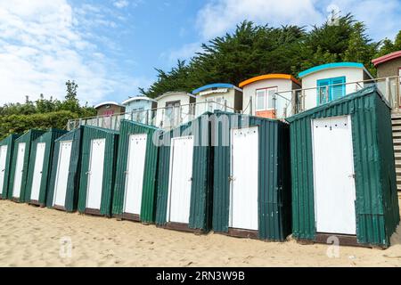
[[[156,224],[208,232],[211,226],[213,150],[209,113],[160,136]]]

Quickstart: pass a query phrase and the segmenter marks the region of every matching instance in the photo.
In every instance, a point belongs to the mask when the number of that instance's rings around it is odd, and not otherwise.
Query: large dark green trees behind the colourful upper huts
[[[232,34],[216,37],[201,46],[188,62],[178,61],[169,71],[156,69],[158,79],[148,90],[140,89],[151,98],[168,91],[187,91],[211,83],[238,85],[241,81],[267,73],[298,75],[316,65],[339,61],[364,63],[374,76],[372,59],[381,49],[401,49],[401,31],[395,43],[373,42],[366,34],[363,22],[351,14],[329,22],[304,27],[272,28],[243,21]],[[397,47],[396,47],[397,45]],[[383,50],[384,51],[384,50]]]

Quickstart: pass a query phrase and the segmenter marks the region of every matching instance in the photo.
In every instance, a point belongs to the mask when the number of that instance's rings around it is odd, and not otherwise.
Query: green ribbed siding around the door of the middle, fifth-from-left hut
[[[78,194],[78,211],[85,213],[86,211],[86,195],[87,195],[87,175],[90,165],[90,152],[92,140],[105,139],[103,181],[102,181],[102,202],[100,214],[102,216],[111,216],[111,201],[113,199],[114,177],[116,173],[117,151],[119,146],[119,133],[94,126],[83,126],[83,142],[82,142],[82,160],[81,175],[79,181]]]

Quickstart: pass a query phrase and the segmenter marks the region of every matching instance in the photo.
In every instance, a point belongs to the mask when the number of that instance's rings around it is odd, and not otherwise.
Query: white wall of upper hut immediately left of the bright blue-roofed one
[[[162,96],[160,99],[157,99],[158,101],[158,110],[156,114],[156,124],[155,126],[160,127],[161,125],[163,127],[166,127],[166,122],[164,122],[164,113],[165,113],[165,107],[166,107],[166,102],[172,102],[172,101],[180,101],[181,106],[186,105],[182,107],[181,110],[181,122],[180,124],[186,123],[190,121],[193,116],[188,115],[190,113],[190,96],[189,94],[186,93],[171,93],[171,94],[166,94],[166,96]],[[163,108],[163,109],[162,109]],[[163,122],[163,124],[161,124]],[[168,122],[167,122],[168,124]]]

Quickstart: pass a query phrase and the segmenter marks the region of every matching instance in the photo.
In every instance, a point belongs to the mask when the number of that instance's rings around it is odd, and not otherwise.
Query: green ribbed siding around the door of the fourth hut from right
[[[116,183],[114,185],[113,215],[123,214],[126,191],[127,159],[129,136],[147,134],[145,166],[143,171],[143,193],[140,219],[143,223],[154,223],[157,199],[157,174],[159,147],[153,143],[153,135],[160,132],[158,128],[143,125],[134,121],[122,120],[119,134],[119,154],[117,159]],[[157,134],[157,133],[156,133]]]

